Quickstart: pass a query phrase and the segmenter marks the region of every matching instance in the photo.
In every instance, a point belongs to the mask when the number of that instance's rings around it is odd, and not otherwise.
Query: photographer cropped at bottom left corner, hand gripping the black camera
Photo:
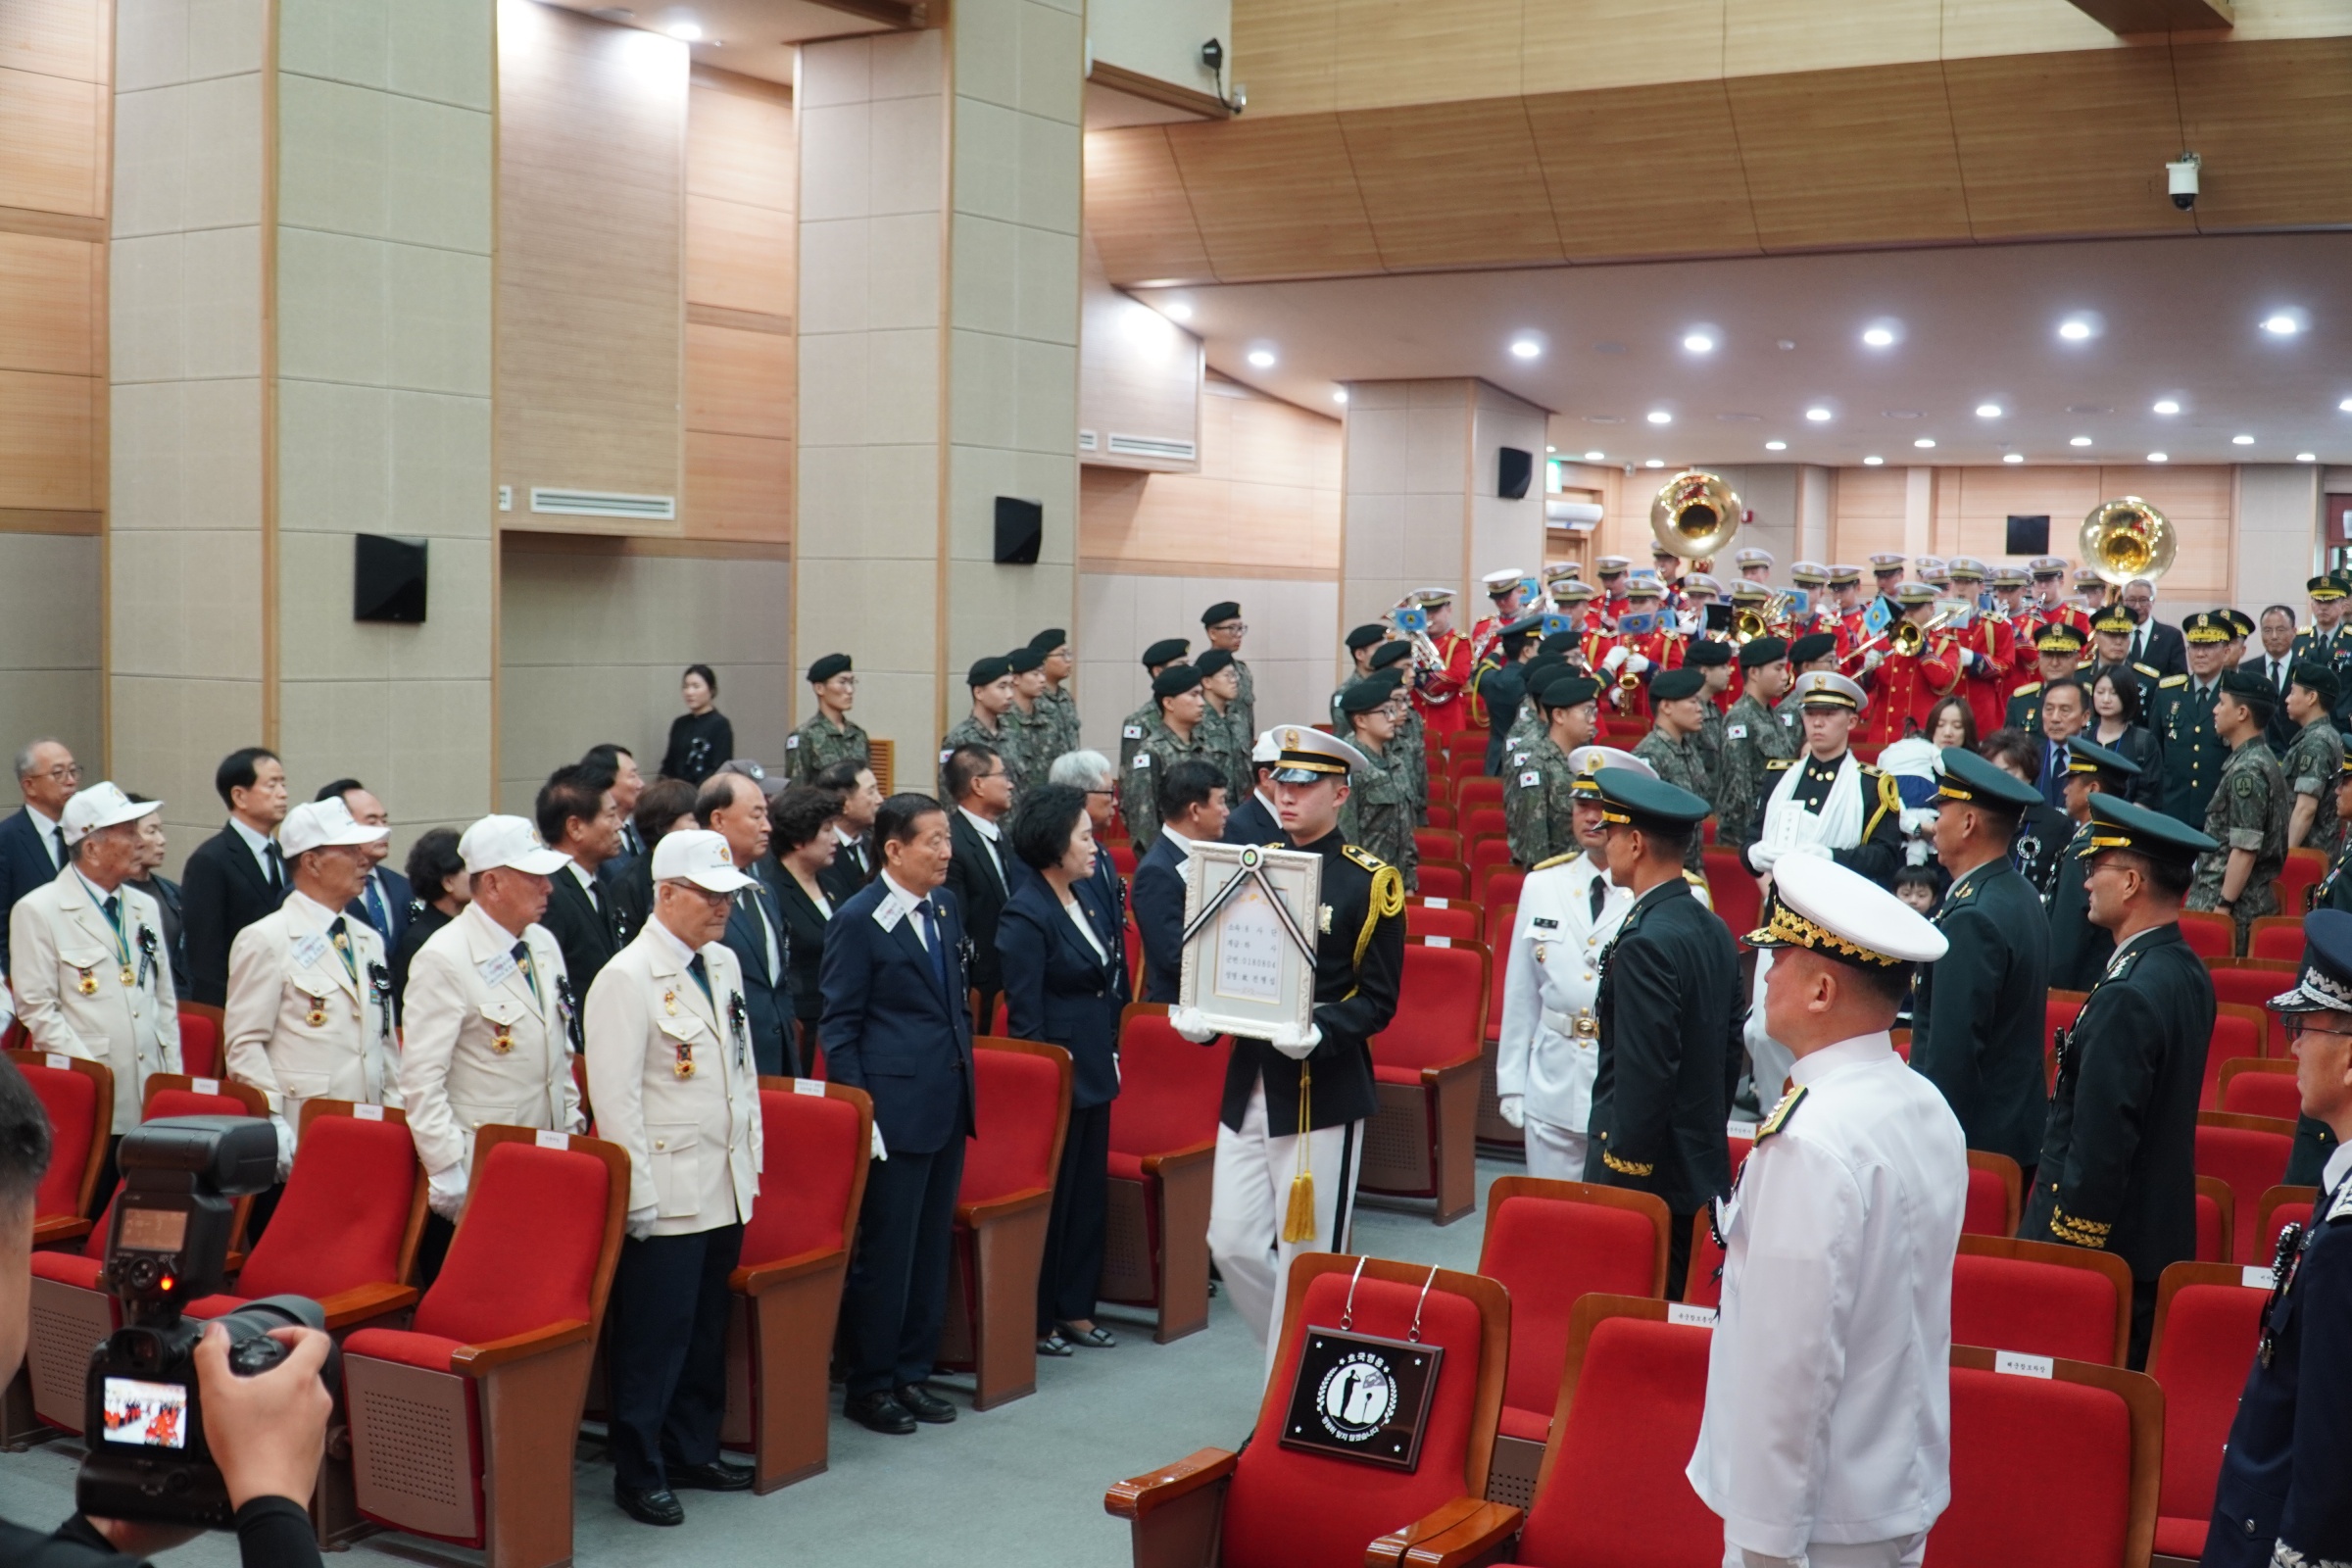
[[[24,1077],[0,1063],[0,1378],[24,1361],[33,1291],[33,1192],[49,1166],[49,1121]],[[315,1568],[303,1500],[327,1446],[332,1401],[320,1382],[327,1335],[282,1328],[292,1354],[259,1378],[228,1371],[228,1333],[207,1328],[195,1352],[205,1436],[238,1507],[245,1568]],[[0,1566],[127,1568],[195,1530],[75,1514],[54,1535],[0,1521]]]

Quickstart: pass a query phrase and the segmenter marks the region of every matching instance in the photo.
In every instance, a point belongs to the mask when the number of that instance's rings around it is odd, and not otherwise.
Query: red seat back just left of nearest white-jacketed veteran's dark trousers
[[[485,1345],[595,1321],[609,1204],[609,1166],[595,1154],[494,1145],[475,1164],[442,1272],[416,1305],[416,1333]]]

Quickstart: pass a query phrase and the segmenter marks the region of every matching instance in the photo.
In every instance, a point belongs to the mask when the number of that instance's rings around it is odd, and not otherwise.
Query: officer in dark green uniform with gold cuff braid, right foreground
[[[2091,919],[2114,936],[2114,957],[2058,1034],[2058,1084],[2018,1229],[2131,1267],[2133,1371],[2147,1359],[2157,1276],[2197,1255],[2197,1095],[2213,980],[2180,938],[2180,900],[2197,856],[2213,849],[2171,816],[2091,797]]]

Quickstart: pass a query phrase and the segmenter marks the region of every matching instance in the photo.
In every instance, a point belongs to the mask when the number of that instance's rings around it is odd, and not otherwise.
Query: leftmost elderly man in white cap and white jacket
[[[9,978],[28,1044],[106,1063],[115,1074],[113,1138],[139,1124],[146,1081],[179,1072],[179,997],[162,910],[127,886],[139,870],[139,823],[160,809],[160,799],[134,802],[113,783],[68,797],[56,818],[66,865],[9,910]],[[111,1190],[113,1143],[96,1201]]]

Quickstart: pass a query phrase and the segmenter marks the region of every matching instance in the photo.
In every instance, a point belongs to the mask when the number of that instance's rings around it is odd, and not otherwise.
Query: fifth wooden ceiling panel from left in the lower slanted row
[[[1943,66],[1724,82],[1766,252],[1969,237]]]

